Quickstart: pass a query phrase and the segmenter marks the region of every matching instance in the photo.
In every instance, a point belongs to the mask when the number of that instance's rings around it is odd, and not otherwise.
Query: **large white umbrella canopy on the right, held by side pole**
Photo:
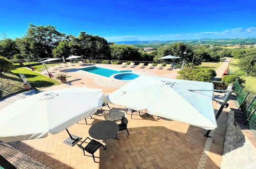
[[[201,128],[216,128],[209,82],[140,76],[108,95],[104,101],[133,110],[182,121]]]

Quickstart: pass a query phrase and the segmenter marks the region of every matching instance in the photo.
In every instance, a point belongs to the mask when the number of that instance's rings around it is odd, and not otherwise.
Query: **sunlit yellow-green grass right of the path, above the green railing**
[[[242,70],[240,70],[239,66],[239,59],[231,59],[230,65],[229,65],[229,74],[238,74],[241,78],[244,78],[245,84],[244,89],[248,92],[256,93],[256,77],[253,76],[247,76],[246,73]]]

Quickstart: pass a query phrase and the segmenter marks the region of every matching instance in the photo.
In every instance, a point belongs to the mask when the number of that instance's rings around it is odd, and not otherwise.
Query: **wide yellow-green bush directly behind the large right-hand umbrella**
[[[177,79],[209,82],[216,76],[216,72],[210,68],[184,67],[178,72]]]

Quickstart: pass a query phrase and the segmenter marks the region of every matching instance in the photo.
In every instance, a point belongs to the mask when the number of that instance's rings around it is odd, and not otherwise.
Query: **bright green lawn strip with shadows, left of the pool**
[[[49,78],[35,71],[29,70],[27,68],[15,68],[11,71],[18,75],[23,73],[27,80],[30,82],[30,85],[36,89],[47,88],[53,85],[60,85],[61,83],[56,81],[54,78]]]

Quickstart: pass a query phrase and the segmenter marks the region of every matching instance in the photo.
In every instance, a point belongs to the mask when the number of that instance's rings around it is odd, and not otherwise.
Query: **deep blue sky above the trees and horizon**
[[[108,41],[256,37],[255,0],[13,0],[0,9],[0,33],[11,38],[24,36],[29,23]]]

